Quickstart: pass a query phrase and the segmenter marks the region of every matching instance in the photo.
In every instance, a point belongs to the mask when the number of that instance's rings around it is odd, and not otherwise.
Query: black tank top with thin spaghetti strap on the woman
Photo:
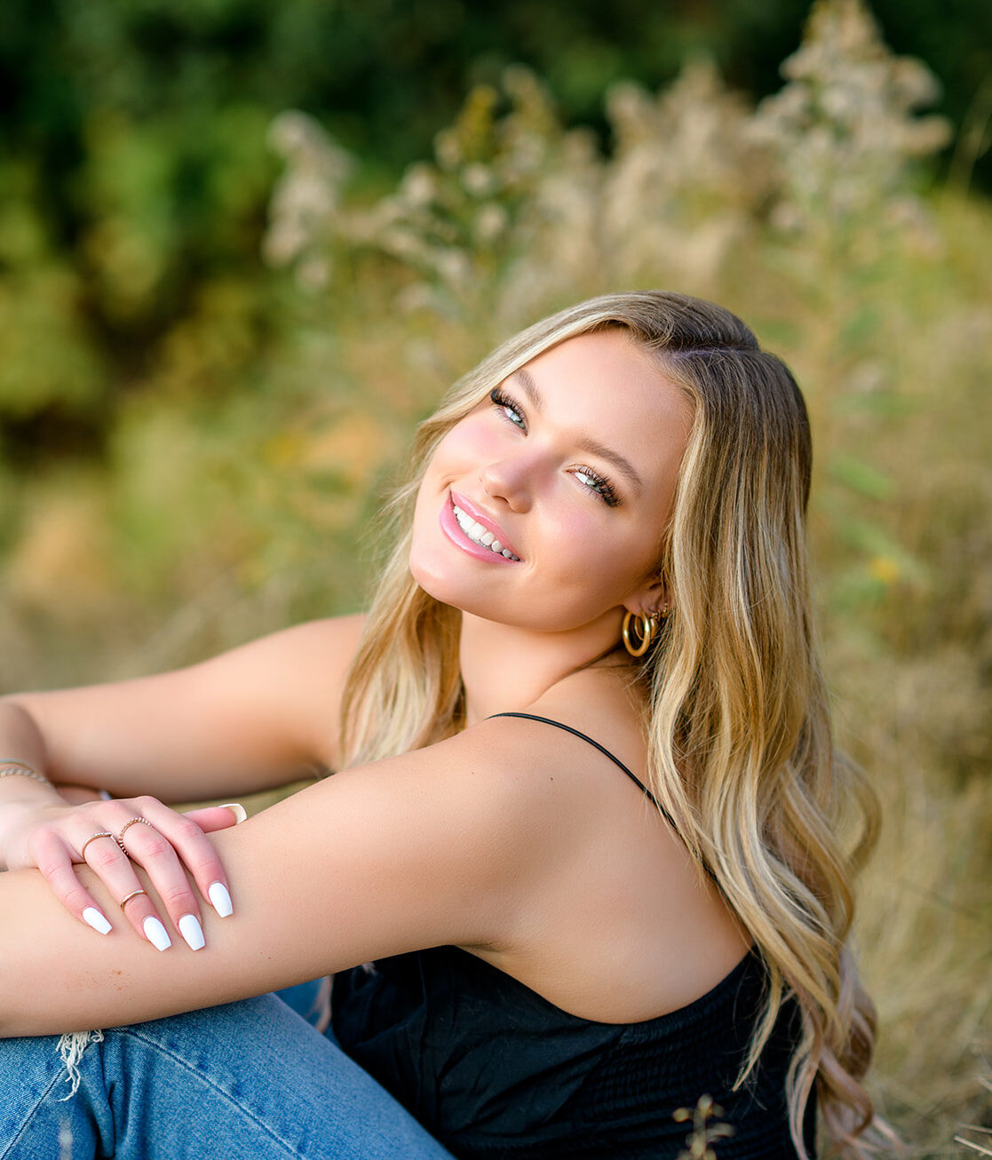
[[[604,753],[647,793],[611,753]],[[801,1034],[787,1001],[755,1070],[733,1090],[762,1012],[765,965],[748,952],[702,998],[638,1023],[571,1015],[457,947],[379,959],[334,977],[333,1028],[458,1160],[675,1160],[704,1095],[733,1134],[717,1160],[796,1160],[785,1074]],[[814,1153],[816,1104],[804,1137]]]

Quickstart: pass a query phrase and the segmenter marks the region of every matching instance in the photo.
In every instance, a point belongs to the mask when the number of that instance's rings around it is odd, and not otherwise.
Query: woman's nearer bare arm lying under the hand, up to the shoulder
[[[213,835],[234,915],[204,907],[197,952],[158,952],[120,920],[96,936],[34,871],[2,875],[0,1031],[130,1023],[413,949],[498,944],[542,826],[521,786],[461,734],[338,774]],[[106,913],[118,912],[109,902]]]

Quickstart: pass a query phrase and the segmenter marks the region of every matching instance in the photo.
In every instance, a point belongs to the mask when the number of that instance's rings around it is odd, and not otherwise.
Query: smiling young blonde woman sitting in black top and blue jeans
[[[420,428],[368,616],[7,698],[0,1157],[674,1158],[704,1097],[719,1160],[812,1157],[817,1118],[860,1157],[837,832],[872,806],[809,485],[737,318],[596,298]],[[161,804],[314,769],[242,826]],[[328,973],[326,1035],[265,994]]]

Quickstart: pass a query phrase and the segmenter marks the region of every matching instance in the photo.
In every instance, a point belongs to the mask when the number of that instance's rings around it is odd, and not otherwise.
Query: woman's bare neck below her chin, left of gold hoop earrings
[[[535,632],[463,612],[459,661],[465,724],[526,709],[578,669],[599,661],[615,664],[611,654],[620,624],[616,611],[570,632]]]

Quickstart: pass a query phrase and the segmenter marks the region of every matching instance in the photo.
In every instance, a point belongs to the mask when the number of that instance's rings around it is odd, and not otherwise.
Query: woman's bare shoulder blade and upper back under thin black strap
[[[577,676],[524,710],[544,720],[497,717],[476,727],[512,761],[494,777],[516,783],[529,813],[529,847],[516,855],[527,883],[519,925],[481,957],[573,1014],[635,1022],[700,998],[750,938],[672,826],[610,760],[646,778],[629,690],[607,674]]]

